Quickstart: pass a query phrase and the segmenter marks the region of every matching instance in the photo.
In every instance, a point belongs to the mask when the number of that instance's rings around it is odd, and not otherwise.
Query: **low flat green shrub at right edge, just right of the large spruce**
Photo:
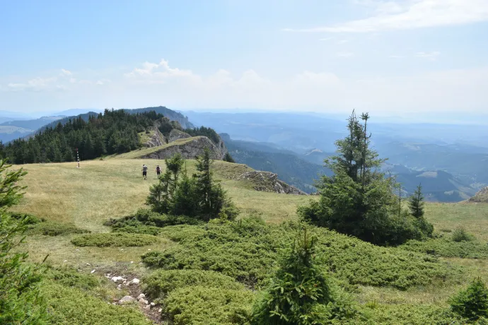
[[[460,257],[463,259],[488,259],[488,244],[483,242],[455,242],[445,237],[426,240],[410,240],[400,246],[407,251],[438,255],[443,257]]]

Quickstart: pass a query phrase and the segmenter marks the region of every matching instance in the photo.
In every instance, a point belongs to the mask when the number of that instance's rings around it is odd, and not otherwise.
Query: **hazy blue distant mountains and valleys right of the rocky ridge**
[[[238,162],[277,172],[281,179],[308,191],[313,184],[311,171],[325,170],[323,160],[334,153],[335,141],[346,135],[345,120],[320,114],[184,114],[194,124],[230,134],[233,150],[229,150]],[[380,157],[388,158],[385,170],[397,176],[407,193],[422,183],[429,201],[455,202],[488,184],[488,132],[484,125],[371,122],[370,126],[373,148]],[[296,172],[296,165],[305,164],[303,169],[309,172]]]

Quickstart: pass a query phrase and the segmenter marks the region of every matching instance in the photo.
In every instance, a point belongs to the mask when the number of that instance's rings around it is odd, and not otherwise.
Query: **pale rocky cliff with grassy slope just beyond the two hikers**
[[[141,158],[166,159],[170,158],[175,153],[180,153],[185,159],[194,159],[199,155],[202,155],[205,148],[209,148],[211,159],[222,160],[223,158],[221,150],[206,136],[195,136],[194,138],[189,138],[188,141],[175,141],[172,144],[173,146],[168,146],[154,153],[143,155]]]

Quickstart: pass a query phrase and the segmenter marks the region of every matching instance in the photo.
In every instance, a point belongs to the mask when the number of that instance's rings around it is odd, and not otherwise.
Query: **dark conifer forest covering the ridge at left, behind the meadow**
[[[74,161],[76,148],[81,160],[127,153],[140,148],[138,133],[146,131],[158,119],[163,119],[163,115],[156,112],[130,114],[124,110],[90,114],[87,120],[74,117],[64,124],[59,122],[40,131],[33,138],[8,143],[0,150],[0,157],[9,157],[15,164],[25,164]]]

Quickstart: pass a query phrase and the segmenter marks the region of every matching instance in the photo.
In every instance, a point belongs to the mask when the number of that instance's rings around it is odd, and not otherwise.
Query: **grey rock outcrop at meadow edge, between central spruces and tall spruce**
[[[278,179],[278,175],[272,172],[252,171],[245,172],[238,177],[238,180],[247,180],[255,184],[256,191],[267,191],[278,194],[307,195],[296,187]]]

